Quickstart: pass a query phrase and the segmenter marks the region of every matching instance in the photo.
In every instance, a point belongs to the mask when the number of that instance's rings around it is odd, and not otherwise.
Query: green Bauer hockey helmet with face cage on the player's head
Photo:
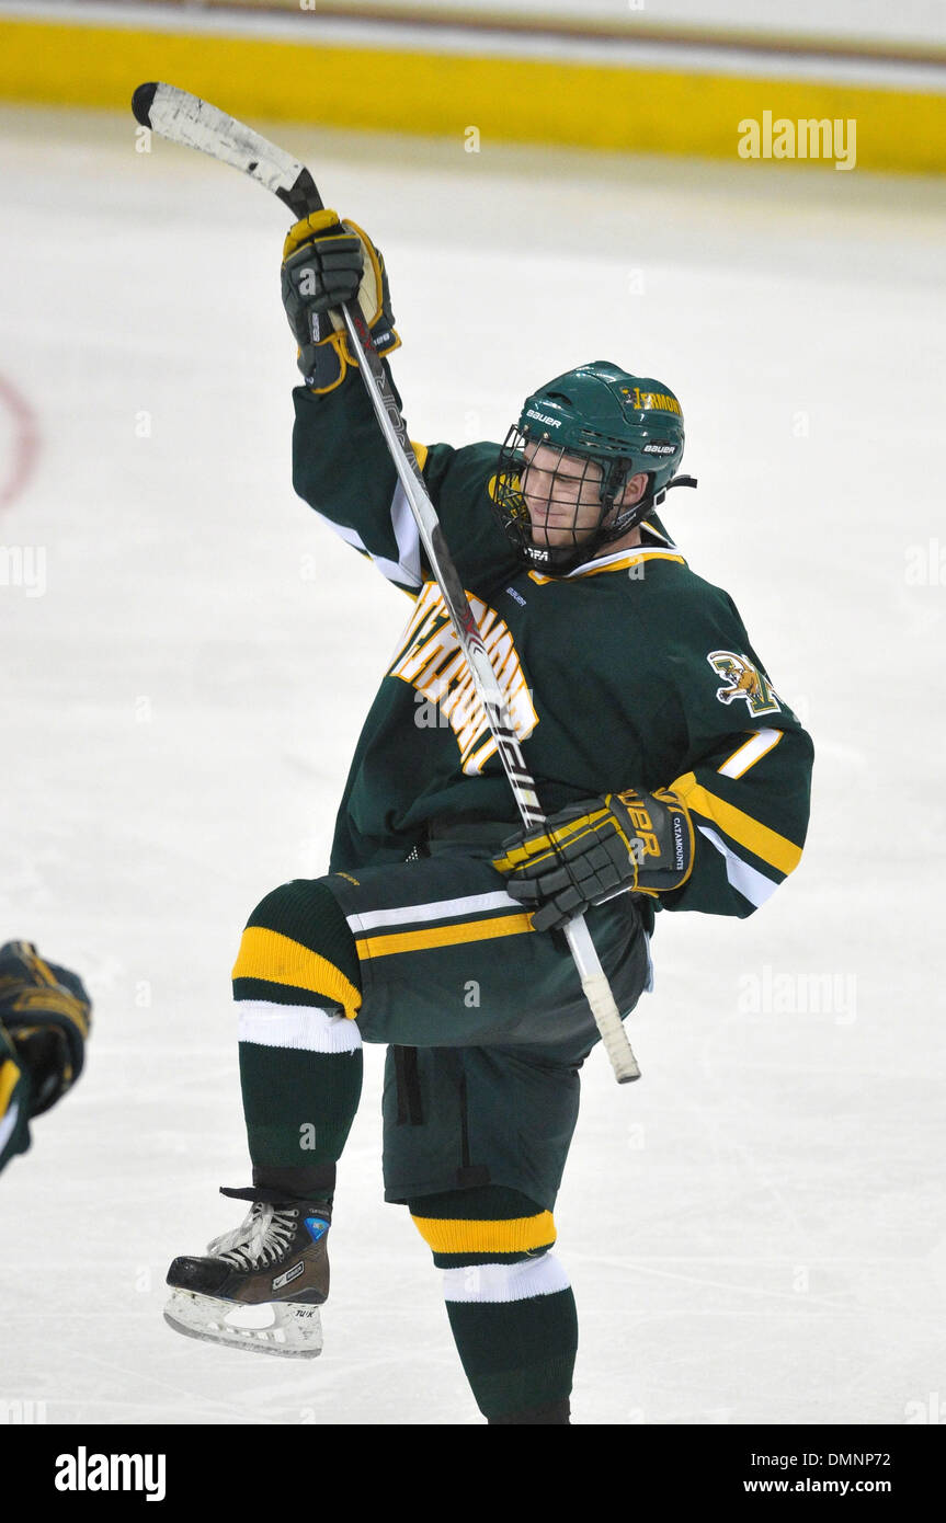
[[[669,387],[596,359],[526,398],[500,451],[494,507],[527,565],[568,571],[629,533],[669,487],[696,486],[676,475],[682,452]],[[643,495],[620,504],[640,472]]]

